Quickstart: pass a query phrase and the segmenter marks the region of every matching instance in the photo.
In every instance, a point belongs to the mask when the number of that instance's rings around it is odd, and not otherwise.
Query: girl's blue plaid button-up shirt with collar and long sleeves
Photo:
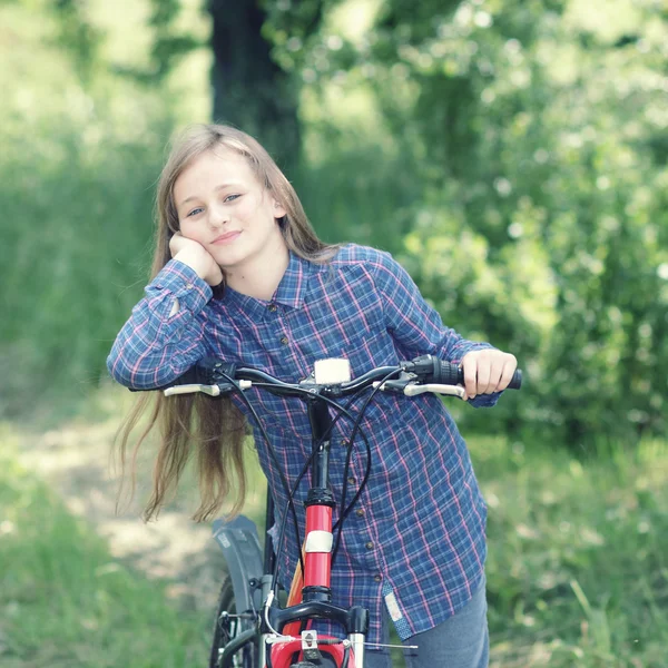
[[[179,310],[173,314],[175,299]],[[459,362],[484,347],[491,346],[445,327],[389,254],[347,245],[325,265],[291,253],[268,302],[230,288],[213,298],[212,288],[190,267],[170,261],[119,333],[108,367],[124,385],[153,389],[215,355],[297,382],[325,357],[346,357],[355,377],[428,353]],[[292,484],[311,453],[305,404],[259,390],[247,396]],[[481,583],[487,553],[485,503],[465,443],[441,400],[431,394],[376,397],[362,422],[371,443],[371,477],[345,522],[332,569],[333,602],[369,608],[371,642],[381,641],[383,601],[402,639],[454,615]],[[471,403],[492,405],[497,399],[479,395]],[[233,401],[246,412],[238,397]],[[332,438],[330,477],[338,499],[350,429],[350,421],[340,420]],[[256,440],[256,449],[278,523],[286,495],[263,439]],[[365,464],[366,450],[357,438],[347,502]],[[297,492],[302,537],[307,487],[304,481]],[[289,523],[286,546],[284,574],[294,572],[299,549]]]

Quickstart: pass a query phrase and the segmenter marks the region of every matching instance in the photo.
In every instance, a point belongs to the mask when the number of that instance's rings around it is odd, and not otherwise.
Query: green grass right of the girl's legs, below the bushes
[[[609,446],[580,462],[473,443],[490,505],[492,665],[668,665],[667,450]]]

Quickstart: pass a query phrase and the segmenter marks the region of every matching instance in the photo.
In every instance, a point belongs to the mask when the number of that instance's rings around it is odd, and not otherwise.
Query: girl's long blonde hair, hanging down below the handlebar
[[[229,126],[199,125],[187,129],[174,144],[158,181],[151,278],[171,258],[169,239],[179,229],[174,184],[193,160],[217,147],[225,147],[244,156],[258,183],[283,206],[286,215],[279,227],[289,250],[318,264],[326,263],[336,254],[338,246],[325,244],[317,238],[292,184],[253,137]],[[202,394],[165,397],[161,393],[141,395],[119,430],[118,454],[122,472],[130,433],[149,410],[148,425],[141,432],[131,455],[134,491],[138,450],[158,425],[160,446],[154,466],[153,491],[144,511],[145,520],[156,518],[166,497],[176,490],[194,449],[197,455],[200,505],[193,519],[198,522],[210,519],[235,492],[230,514],[237,513],[246,494],[243,456],[246,421],[238,409],[227,397],[212,399]]]

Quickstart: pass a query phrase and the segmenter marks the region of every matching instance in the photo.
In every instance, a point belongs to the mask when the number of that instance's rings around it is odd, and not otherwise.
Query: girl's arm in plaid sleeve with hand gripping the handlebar
[[[474,397],[471,403],[475,406],[497,403],[499,392],[487,393],[498,384],[490,383],[490,373],[497,381],[498,371],[503,379],[510,372],[510,380],[517,364],[514,357],[489,343],[468,341],[446,327],[438,311],[424,301],[409,273],[387,253],[377,252],[372,258],[372,267],[383,299],[387,331],[400,346],[410,356],[430,354],[454,364],[463,362],[466,395]],[[482,382],[477,382],[481,376]]]

